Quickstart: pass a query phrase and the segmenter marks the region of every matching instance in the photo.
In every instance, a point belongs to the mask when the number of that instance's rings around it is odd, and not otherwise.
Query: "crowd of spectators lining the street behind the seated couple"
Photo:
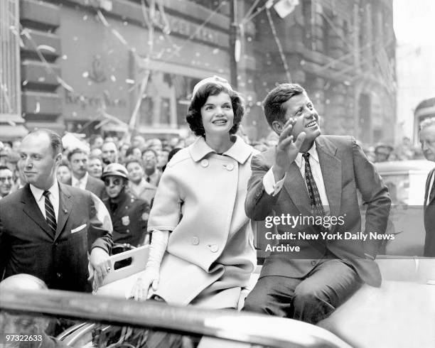
[[[239,131],[240,136],[260,152],[274,146],[278,138],[274,132],[258,141],[249,141],[247,136]],[[94,134],[90,138],[78,139],[80,148],[85,148],[87,153],[87,165],[85,170],[93,178],[100,179],[102,171],[109,163],[122,163],[129,172],[129,190],[135,197],[146,200],[151,205],[151,200],[159,185],[161,173],[176,151],[184,148],[193,141],[194,136],[188,138],[173,137],[169,139],[149,138],[133,136],[130,141],[117,136],[101,136]],[[18,148],[21,139],[0,142],[0,199],[10,192],[23,187],[23,179],[20,178],[16,166],[18,162]],[[65,145],[65,144],[64,144]],[[411,140],[404,136],[397,146],[389,143],[376,143],[367,145],[360,143],[367,158],[372,162],[404,161],[424,158],[420,146],[414,146]],[[58,168],[58,180],[61,183],[71,184],[72,166],[70,153],[77,145],[65,146],[63,163]],[[100,195],[99,195],[100,196]]]

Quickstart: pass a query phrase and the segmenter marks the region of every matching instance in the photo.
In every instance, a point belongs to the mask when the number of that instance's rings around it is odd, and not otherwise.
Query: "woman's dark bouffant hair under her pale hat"
[[[245,101],[240,94],[235,91],[229,90],[222,85],[216,83],[208,83],[198,89],[195,96],[190,102],[186,121],[196,136],[205,136],[203,119],[201,117],[201,107],[204,106],[207,98],[210,95],[218,95],[220,92],[225,92],[230,96],[232,111],[234,112],[234,125],[230,129],[230,134],[235,134],[239,129],[240,122],[242,122],[243,114],[245,114]]]

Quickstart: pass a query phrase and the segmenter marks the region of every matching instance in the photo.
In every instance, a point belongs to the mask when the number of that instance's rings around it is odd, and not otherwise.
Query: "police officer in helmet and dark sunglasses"
[[[119,163],[110,163],[103,170],[102,180],[108,196],[103,202],[112,218],[114,243],[131,246],[148,244],[149,204],[128,192],[127,169]]]

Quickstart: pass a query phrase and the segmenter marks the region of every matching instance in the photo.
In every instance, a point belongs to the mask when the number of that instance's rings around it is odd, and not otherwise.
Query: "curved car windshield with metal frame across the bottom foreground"
[[[4,343],[43,342],[26,347],[350,347],[299,320],[60,290],[2,291],[0,329]]]

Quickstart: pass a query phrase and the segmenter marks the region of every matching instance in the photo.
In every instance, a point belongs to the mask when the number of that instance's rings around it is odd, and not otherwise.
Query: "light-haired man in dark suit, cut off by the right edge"
[[[420,125],[420,143],[424,157],[435,162],[435,117],[425,119]],[[429,172],[424,191],[424,256],[435,257],[435,168]]]

